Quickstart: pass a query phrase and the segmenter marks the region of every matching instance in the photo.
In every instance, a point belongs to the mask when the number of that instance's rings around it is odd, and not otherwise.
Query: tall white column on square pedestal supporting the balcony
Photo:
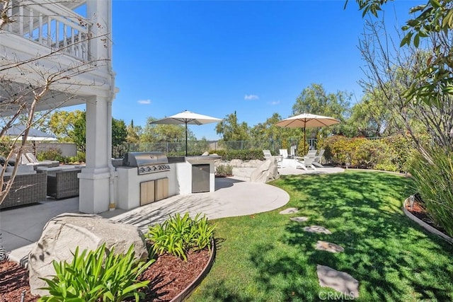
[[[88,0],[86,5],[87,16],[93,23],[93,39],[89,42],[91,60],[101,60],[98,61],[102,63],[97,65],[97,71],[103,72],[105,79],[110,80],[95,83],[93,97],[86,100],[86,168],[79,173],[79,211],[97,214],[108,211],[109,204],[115,202],[112,195],[115,173],[110,161],[111,105],[115,97],[115,76],[111,63],[112,15],[110,0]]]

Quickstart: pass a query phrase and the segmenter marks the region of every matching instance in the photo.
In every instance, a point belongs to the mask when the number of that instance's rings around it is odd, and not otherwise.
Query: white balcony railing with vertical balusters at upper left
[[[60,50],[72,57],[88,61],[91,23],[62,6],[58,1],[10,1],[6,30],[37,42],[52,51]]]

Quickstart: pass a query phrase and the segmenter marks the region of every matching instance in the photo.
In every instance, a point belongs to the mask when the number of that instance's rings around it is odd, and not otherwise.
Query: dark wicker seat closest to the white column
[[[81,169],[49,171],[47,174],[47,195],[55,199],[79,196]]]

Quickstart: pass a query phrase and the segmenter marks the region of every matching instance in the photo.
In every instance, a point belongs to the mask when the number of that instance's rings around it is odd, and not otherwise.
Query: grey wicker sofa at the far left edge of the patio
[[[4,176],[5,181],[9,179],[10,176]],[[46,188],[46,171],[37,171],[37,173],[33,174],[18,174],[14,178],[13,185],[6,195],[6,199],[0,204],[0,209],[43,202],[46,199]]]

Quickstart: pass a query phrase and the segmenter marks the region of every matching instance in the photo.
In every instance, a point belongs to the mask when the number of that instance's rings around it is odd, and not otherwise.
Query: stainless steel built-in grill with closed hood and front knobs
[[[123,165],[137,167],[137,174],[149,174],[170,170],[168,158],[162,152],[129,152],[125,154]]]

